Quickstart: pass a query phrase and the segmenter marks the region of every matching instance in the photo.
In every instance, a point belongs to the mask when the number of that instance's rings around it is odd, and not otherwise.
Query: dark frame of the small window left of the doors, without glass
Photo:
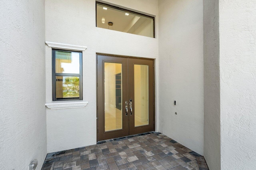
[[[55,51],[64,51],[64,52],[71,52],[71,53],[79,53],[79,72],[80,74],[69,74],[69,73],[56,73],[55,71],[55,58],[56,53]],[[52,49],[52,101],[68,101],[68,100],[83,100],[83,75],[82,72],[82,51],[70,51],[70,50],[62,50],[62,49]],[[79,98],[56,98],[56,76],[78,76],[79,77]]]

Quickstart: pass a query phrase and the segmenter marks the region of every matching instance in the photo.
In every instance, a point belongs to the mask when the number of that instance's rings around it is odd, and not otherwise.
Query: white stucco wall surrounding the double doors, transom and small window
[[[96,144],[96,52],[156,59],[158,116],[158,1],[108,0],[156,16],[156,39],[95,26],[95,0],[46,0],[46,41],[87,46],[83,52],[83,100],[78,109],[47,109],[48,152]],[[51,48],[46,45],[46,102],[52,102]],[[158,117],[156,117],[158,123]],[[157,131],[156,125],[156,131]]]

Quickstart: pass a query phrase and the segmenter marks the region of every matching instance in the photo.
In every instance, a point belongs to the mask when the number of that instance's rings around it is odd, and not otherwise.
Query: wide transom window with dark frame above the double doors
[[[155,37],[153,16],[96,2],[96,27]]]

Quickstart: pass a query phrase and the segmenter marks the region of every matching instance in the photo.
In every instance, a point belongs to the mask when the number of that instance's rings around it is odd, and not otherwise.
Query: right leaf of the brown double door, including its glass
[[[129,59],[129,135],[154,131],[154,61]]]

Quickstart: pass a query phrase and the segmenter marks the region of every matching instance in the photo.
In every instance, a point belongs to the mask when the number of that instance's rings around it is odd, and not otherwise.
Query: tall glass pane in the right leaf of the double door
[[[134,64],[134,125],[148,125],[148,66]]]

